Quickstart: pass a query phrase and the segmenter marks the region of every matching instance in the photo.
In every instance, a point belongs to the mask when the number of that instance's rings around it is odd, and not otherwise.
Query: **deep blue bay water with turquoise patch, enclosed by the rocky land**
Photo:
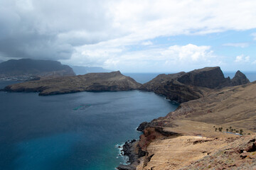
[[[114,169],[124,162],[117,144],[139,138],[139,123],[178,106],[141,91],[0,92],[0,101],[0,169],[7,170]]]

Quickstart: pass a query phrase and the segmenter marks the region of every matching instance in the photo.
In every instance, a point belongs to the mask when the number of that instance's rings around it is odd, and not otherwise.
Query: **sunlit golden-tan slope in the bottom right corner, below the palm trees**
[[[181,136],[155,140],[137,170],[256,168],[256,135],[242,137]]]

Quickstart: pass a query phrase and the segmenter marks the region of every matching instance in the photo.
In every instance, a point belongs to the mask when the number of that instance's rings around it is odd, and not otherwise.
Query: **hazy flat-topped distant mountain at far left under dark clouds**
[[[8,60],[0,63],[0,79],[29,81],[42,78],[74,76],[73,69],[51,60]]]

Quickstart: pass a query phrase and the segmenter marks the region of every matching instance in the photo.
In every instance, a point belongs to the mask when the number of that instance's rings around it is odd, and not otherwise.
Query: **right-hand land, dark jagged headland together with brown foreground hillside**
[[[137,170],[252,169],[256,167],[256,83],[219,67],[161,74],[140,89],[179,101],[176,111],[137,130]],[[242,134],[242,135],[241,135]],[[136,152],[137,151],[137,152]],[[139,152],[145,153],[144,155]]]

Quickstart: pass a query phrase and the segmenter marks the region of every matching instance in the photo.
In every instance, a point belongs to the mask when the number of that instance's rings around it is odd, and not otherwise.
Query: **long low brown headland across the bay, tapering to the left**
[[[129,91],[140,85],[120,72],[110,72],[28,81],[6,86],[5,91],[38,91],[39,95],[53,95],[79,91]]]

